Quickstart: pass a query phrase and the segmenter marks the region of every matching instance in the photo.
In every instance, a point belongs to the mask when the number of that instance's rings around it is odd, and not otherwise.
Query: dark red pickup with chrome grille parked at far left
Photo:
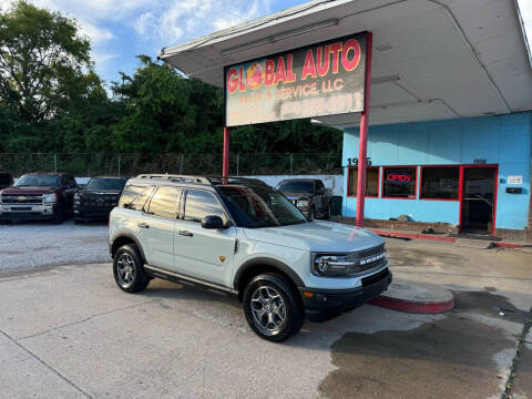
[[[72,215],[76,184],[69,173],[28,173],[0,195],[0,221],[50,219]]]

